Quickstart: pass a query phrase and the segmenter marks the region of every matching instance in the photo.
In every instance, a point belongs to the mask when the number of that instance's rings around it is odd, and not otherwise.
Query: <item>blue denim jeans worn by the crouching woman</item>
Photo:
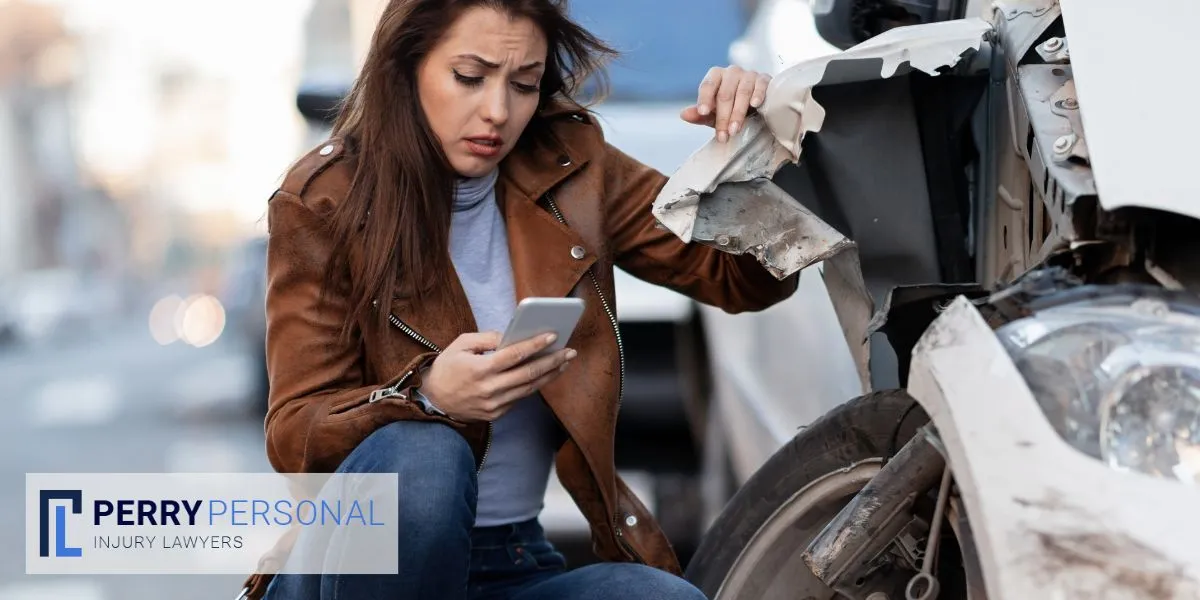
[[[368,436],[338,473],[397,473],[396,575],[277,575],[265,600],[704,600],[666,571],[630,563],[566,570],[536,520],[475,522],[475,460],[442,424],[400,421]],[[298,544],[304,544],[301,535]]]

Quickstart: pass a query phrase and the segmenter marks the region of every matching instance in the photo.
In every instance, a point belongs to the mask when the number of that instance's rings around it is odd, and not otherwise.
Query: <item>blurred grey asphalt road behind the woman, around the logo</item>
[[[0,599],[211,600],[241,576],[29,576],[26,473],[270,472],[251,371],[229,340],[162,347],[142,320],[37,348],[0,349]],[[635,480],[636,485],[636,480]],[[643,496],[644,497],[644,496]],[[544,522],[564,541],[582,517],[552,485]]]

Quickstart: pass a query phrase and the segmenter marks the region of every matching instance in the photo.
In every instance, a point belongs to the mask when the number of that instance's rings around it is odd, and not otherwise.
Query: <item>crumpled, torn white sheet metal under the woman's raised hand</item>
[[[709,140],[671,176],[652,208],[655,218],[684,242],[749,252],[779,278],[854,247],[805,209],[803,198],[797,202],[770,181],[785,163],[800,161],[804,136],[821,130],[826,108],[812,89],[911,70],[937,74],[979,49],[990,30],[978,18],[899,28],[787,68],[736,136],[724,144]]]

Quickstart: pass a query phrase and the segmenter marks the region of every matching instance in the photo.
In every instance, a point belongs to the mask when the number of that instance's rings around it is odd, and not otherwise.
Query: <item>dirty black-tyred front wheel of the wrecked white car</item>
[[[688,580],[714,600],[842,598],[812,574],[802,553],[924,422],[924,413],[899,390],[862,396],[829,412],[738,490],[688,565]],[[940,547],[940,568],[959,556],[947,546],[955,544]],[[952,570],[938,572],[944,577],[940,598],[982,598],[966,593],[961,568],[944,569]]]

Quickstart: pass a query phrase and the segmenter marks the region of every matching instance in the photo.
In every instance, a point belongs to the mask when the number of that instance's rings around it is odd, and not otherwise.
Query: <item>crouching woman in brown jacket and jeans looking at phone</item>
[[[253,577],[251,598],[703,598],[616,474],[613,265],[730,312],[797,282],[655,228],[666,178],[572,100],[612,52],[562,5],[389,2],[334,138],[270,200],[269,457],[398,473],[401,564]],[[767,83],[713,68],[682,116],[724,142]],[[568,295],[569,348],[496,350],[518,299]],[[601,564],[565,571],[538,524],[552,462]]]

